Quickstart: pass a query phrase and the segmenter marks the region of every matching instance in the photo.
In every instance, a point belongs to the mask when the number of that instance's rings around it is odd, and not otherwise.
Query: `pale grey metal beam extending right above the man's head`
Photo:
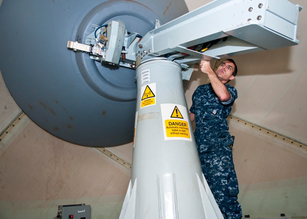
[[[203,52],[207,55],[204,59],[296,45],[301,9],[287,0],[216,0],[147,33],[138,42],[142,50],[151,51],[142,61],[174,51],[201,58],[198,52],[183,48],[223,37],[229,37],[231,43],[218,43],[222,46],[217,46],[215,51]],[[236,45],[231,45],[233,43]]]

